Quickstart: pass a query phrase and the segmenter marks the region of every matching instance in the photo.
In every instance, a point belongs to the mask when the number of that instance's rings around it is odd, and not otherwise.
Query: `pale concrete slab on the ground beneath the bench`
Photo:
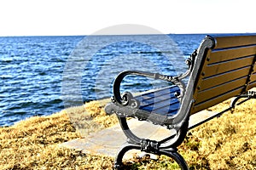
[[[190,116],[189,127],[215,114],[216,113],[212,111],[201,111],[200,113]],[[150,122],[137,121],[136,119],[129,120],[128,125],[133,133],[144,139],[165,139],[165,137],[173,133],[166,129],[166,127],[156,126]],[[124,144],[125,141],[125,134],[118,124],[100,132],[92,133],[86,139],[73,139],[61,144],[61,146],[81,150],[84,153],[115,156],[120,146]],[[125,155],[125,158],[130,159],[131,156],[134,156],[137,152],[140,154],[139,150],[133,150],[131,153],[128,153],[127,156]]]

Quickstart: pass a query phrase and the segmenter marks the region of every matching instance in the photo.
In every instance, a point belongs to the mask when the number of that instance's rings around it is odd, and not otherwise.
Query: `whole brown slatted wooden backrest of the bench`
[[[190,115],[256,87],[256,35],[206,37],[197,58]]]

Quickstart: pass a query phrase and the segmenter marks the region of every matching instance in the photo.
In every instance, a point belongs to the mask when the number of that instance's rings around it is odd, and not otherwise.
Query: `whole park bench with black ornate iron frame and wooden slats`
[[[247,99],[256,99],[256,35],[207,36],[200,47],[186,60],[188,71],[172,77],[160,73],[123,71],[113,82],[112,103],[105,107],[108,114],[119,118],[127,142],[119,150],[114,167],[122,168],[122,159],[128,150],[142,150],[155,155],[172,157],[182,169],[189,169],[183,156],[177,153],[189,129],[197,127],[224,112],[234,109]],[[172,86],[133,96],[120,94],[122,80],[137,75],[172,82]],[[184,77],[189,77],[187,85]],[[235,97],[228,109],[214,114],[189,127],[189,116]],[[239,100],[244,98],[242,101]],[[236,104],[237,101],[240,103]],[[174,130],[166,139],[141,139],[131,132],[126,117],[137,118]]]

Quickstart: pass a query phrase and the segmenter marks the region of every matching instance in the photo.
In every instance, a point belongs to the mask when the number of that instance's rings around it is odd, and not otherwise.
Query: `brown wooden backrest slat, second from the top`
[[[212,51],[209,64],[218,63],[229,59],[237,59],[256,54],[256,45],[242,48],[230,48],[226,50]]]

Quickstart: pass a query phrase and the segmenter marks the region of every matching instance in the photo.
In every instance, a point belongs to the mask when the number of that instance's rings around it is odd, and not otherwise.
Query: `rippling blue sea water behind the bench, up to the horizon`
[[[186,70],[184,59],[205,35],[168,37],[176,42],[175,48],[158,35],[95,36],[87,41],[88,37],[0,37],[0,126],[50,115],[64,104],[110,97],[119,71],[180,74]],[[122,90],[165,85],[128,77]]]

